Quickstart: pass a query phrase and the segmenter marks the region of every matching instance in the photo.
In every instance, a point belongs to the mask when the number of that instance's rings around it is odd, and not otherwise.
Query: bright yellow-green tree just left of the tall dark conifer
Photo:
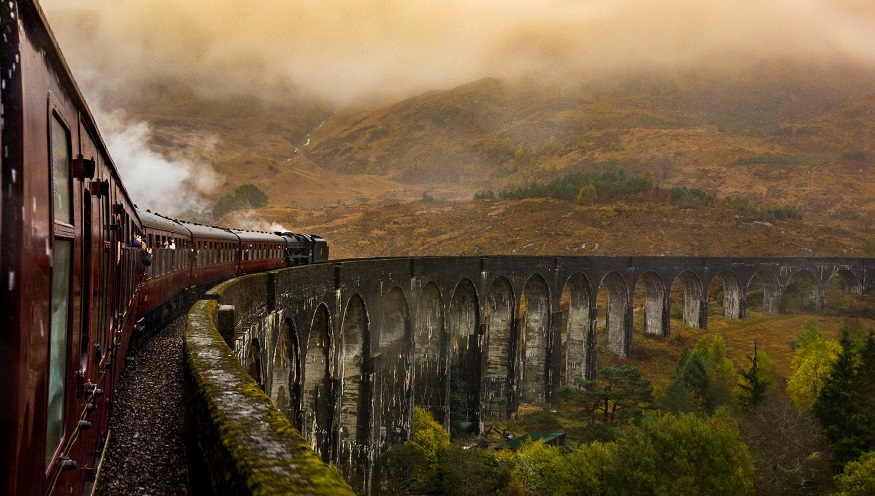
[[[838,342],[827,339],[817,329],[813,319],[805,323],[805,329],[799,333],[796,342],[798,348],[793,355],[787,393],[797,406],[811,408],[829,378],[842,347]]]

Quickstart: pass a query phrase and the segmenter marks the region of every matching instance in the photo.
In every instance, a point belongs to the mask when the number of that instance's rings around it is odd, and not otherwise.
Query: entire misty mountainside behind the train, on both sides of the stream
[[[663,188],[789,204],[818,225],[875,219],[875,75],[850,67],[628,77],[575,88],[483,79],[369,108],[289,92],[204,99],[156,86],[116,103],[270,206],[319,210],[474,192],[626,168]],[[204,137],[209,146],[204,146]],[[282,222],[289,222],[284,219]]]

